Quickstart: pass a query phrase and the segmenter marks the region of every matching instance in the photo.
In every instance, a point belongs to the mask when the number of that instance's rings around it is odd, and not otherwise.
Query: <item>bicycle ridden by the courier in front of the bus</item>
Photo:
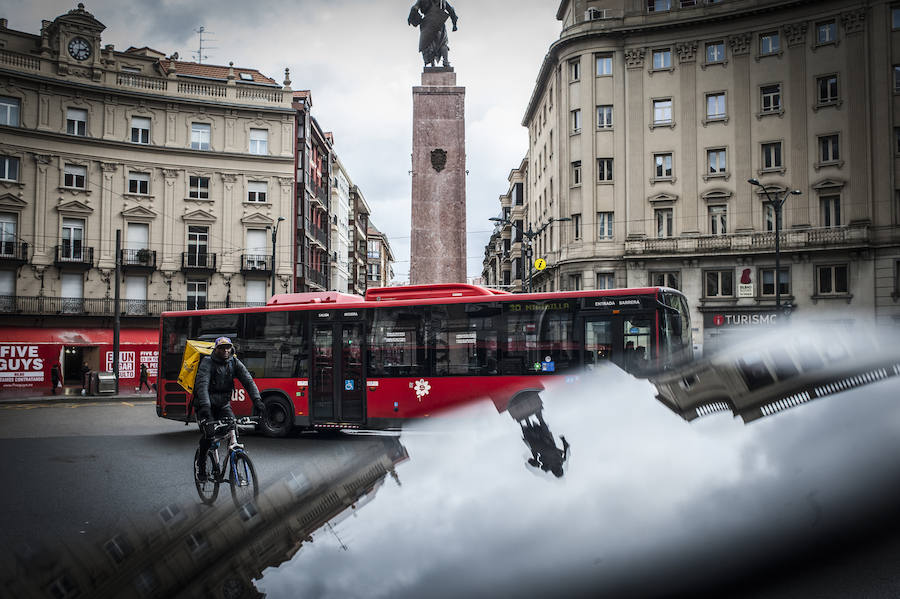
[[[194,453],[194,485],[197,487],[200,500],[206,505],[212,505],[219,496],[219,485],[226,482],[231,486],[231,498],[238,508],[259,496],[256,468],[253,467],[250,456],[244,451],[244,446],[238,443],[237,439],[238,424],[253,425],[258,421],[258,417],[211,421],[215,428],[212,434],[212,445],[206,453],[207,477],[205,480],[200,479],[200,448],[198,447]],[[228,438],[228,449],[224,452],[224,456],[220,457],[220,445],[226,437]],[[226,478],[227,473],[230,473],[229,478]]]

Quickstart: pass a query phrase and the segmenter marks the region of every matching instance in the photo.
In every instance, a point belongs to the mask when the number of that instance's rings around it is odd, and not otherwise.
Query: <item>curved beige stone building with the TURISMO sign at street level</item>
[[[563,0],[556,16],[523,119],[525,220],[572,221],[534,241],[535,289],[677,287],[715,348],[783,318],[768,199],[796,189],[782,305],[900,323],[900,7]]]

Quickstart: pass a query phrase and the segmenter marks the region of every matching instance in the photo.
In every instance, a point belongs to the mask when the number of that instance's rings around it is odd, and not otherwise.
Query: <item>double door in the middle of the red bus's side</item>
[[[365,321],[356,311],[314,312],[309,399],[312,424],[365,420]]]

